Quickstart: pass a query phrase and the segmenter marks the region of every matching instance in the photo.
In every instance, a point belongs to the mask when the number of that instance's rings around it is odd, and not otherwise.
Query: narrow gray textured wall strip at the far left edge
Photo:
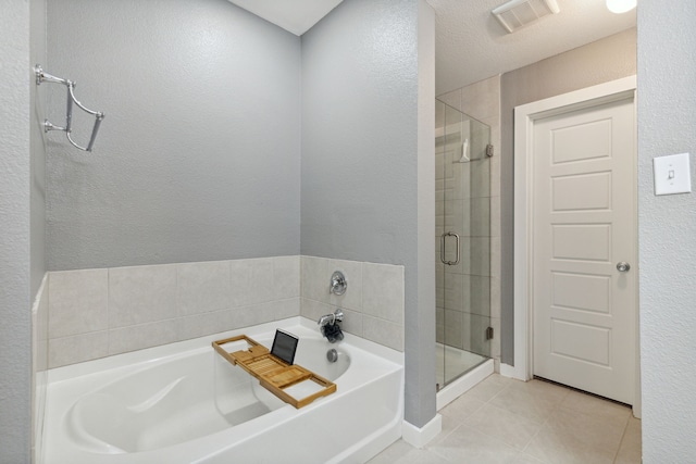
[[[0,461],[29,462],[32,398],[29,2],[0,2]]]

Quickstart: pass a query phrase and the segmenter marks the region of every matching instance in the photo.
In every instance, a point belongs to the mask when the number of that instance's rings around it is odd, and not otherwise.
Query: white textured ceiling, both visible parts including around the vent
[[[229,0],[302,35],[343,0]],[[436,93],[440,95],[634,27],[635,10],[610,13],[605,0],[557,0],[558,14],[513,34],[490,14],[506,0],[426,0],[435,10]]]

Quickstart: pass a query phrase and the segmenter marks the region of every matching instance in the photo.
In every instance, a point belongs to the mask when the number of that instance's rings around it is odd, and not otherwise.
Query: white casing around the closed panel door
[[[534,173],[532,163],[534,122],[569,111],[582,110],[602,103],[633,98],[635,101],[636,76],[629,76],[609,83],[599,84],[544,100],[522,104],[514,109],[514,366],[500,365],[500,374],[520,380],[529,380],[533,376],[533,329],[532,329],[532,265],[533,265],[533,221],[534,205],[532,187]],[[637,201],[634,173],[634,198]],[[636,202],[634,209],[637,210]],[[637,214],[634,224],[637,230]],[[637,240],[636,240],[637,241]],[[637,243],[636,243],[637,256]],[[637,266],[636,266],[637,267]],[[637,271],[637,269],[636,269]],[[637,286],[636,286],[637,287]],[[637,302],[637,288],[636,300]],[[636,394],[634,414],[639,416],[639,363],[637,349],[638,314],[636,304]]]

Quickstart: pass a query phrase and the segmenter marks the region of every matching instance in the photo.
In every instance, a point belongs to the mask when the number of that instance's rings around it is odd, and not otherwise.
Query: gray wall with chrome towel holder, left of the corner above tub
[[[48,26],[46,70],[107,115],[91,154],[48,136],[51,271],[299,253],[298,37],[226,0],[55,0]]]

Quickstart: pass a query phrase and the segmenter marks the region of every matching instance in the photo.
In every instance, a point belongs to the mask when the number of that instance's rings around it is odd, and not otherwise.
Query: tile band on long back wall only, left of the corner
[[[300,259],[52,272],[48,287],[59,367],[297,316]]]

